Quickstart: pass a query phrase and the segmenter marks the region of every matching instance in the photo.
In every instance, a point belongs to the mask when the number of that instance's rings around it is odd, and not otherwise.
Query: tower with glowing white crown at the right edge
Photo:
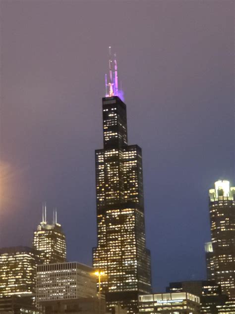
[[[235,298],[235,187],[229,181],[215,182],[209,190],[212,247],[207,253],[210,279],[222,292]],[[208,253],[210,253],[208,255]]]

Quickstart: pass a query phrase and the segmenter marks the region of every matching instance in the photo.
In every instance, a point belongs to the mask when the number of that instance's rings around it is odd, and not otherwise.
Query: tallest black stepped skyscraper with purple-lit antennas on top
[[[126,105],[117,88],[117,62],[111,58],[107,85],[102,99],[104,148],[95,152],[98,243],[93,267],[105,273],[101,288],[108,309],[120,303],[137,313],[138,294],[151,293],[142,153],[139,146],[127,144]]]

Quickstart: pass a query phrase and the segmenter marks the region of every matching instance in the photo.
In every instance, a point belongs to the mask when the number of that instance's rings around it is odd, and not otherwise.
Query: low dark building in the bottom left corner
[[[8,296],[0,298],[0,314],[40,314],[34,304],[32,297]]]

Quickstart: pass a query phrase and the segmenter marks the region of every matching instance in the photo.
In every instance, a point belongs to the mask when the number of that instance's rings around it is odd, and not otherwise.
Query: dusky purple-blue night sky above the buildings
[[[69,260],[96,246],[108,47],[143,151],[154,291],[206,278],[208,189],[234,180],[234,1],[1,0],[0,246],[31,245],[42,202]]]

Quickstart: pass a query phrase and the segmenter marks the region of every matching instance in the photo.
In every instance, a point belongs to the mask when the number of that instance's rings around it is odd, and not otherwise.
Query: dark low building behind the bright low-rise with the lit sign
[[[201,313],[217,314],[219,307],[226,305],[229,300],[221,292],[221,286],[212,280],[172,282],[167,292],[189,292],[200,297]]]

